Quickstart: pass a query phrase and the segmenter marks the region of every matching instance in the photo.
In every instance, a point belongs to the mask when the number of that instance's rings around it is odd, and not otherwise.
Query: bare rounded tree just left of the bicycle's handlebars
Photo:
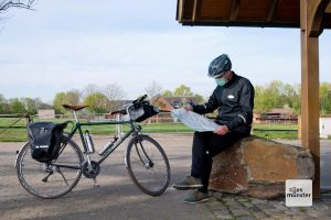
[[[122,105],[120,101],[125,98],[126,94],[120,86],[117,84],[108,84],[103,91],[107,98],[105,105],[108,111],[118,109]]]

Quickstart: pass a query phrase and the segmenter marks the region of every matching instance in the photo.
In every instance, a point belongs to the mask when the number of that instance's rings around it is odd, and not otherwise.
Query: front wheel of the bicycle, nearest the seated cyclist
[[[150,196],[161,195],[170,182],[168,157],[148,135],[135,136],[128,144],[126,165],[135,185]]]

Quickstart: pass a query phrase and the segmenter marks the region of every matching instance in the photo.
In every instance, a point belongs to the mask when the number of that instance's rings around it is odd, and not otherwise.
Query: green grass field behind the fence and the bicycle
[[[17,119],[8,119],[8,118],[0,118],[0,142],[14,142],[14,141],[26,141],[26,120],[22,119],[14,124],[14,128],[9,129],[4,132],[3,129],[10,124],[12,124]],[[38,120],[34,120],[35,122]],[[53,122],[63,122],[66,121],[62,120],[52,120]],[[83,121],[82,121],[83,122]],[[182,123],[153,123],[153,124],[146,124],[141,123],[142,132],[146,133],[193,133],[193,130],[189,129]],[[97,127],[84,127],[84,131],[88,130],[92,134],[113,134],[115,133],[115,125],[97,125]],[[124,132],[127,131],[129,128],[128,125],[124,125]],[[71,128],[66,129],[66,132],[70,132]],[[286,130],[286,131],[281,131]],[[253,127],[253,134],[263,136],[266,139],[285,139],[285,140],[297,140],[298,139],[298,131],[297,124],[254,124]]]

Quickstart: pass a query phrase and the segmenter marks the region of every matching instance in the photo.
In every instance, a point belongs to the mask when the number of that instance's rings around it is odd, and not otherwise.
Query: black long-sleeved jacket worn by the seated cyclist
[[[234,74],[225,86],[215,88],[206,103],[193,106],[193,111],[204,114],[217,108],[216,123],[227,125],[229,131],[249,135],[254,108],[254,87],[250,81]]]

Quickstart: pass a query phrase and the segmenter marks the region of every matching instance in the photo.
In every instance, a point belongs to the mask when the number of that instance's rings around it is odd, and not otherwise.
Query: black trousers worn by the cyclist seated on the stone
[[[212,157],[248,135],[238,132],[228,132],[217,135],[213,132],[195,132],[192,146],[191,176],[200,178],[203,187],[201,191],[207,191],[209,179],[212,170]]]

